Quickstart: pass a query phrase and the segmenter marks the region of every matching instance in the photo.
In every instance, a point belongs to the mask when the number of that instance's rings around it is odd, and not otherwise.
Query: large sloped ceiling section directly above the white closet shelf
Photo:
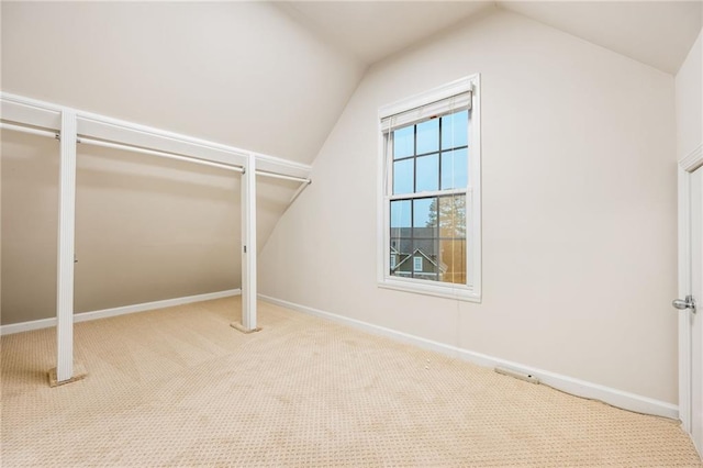
[[[266,2],[0,8],[3,91],[299,163],[365,69]]]

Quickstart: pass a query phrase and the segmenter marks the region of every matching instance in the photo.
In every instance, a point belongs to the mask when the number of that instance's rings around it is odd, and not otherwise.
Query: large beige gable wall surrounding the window
[[[377,112],[482,78],[483,302],[376,285]],[[507,12],[372,67],[259,261],[263,293],[677,401],[673,77]]]

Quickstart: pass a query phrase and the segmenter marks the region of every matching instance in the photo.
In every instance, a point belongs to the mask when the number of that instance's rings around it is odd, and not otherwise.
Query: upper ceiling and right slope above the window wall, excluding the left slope
[[[702,1],[289,1],[279,8],[372,64],[446,27],[510,10],[676,74],[701,30]]]

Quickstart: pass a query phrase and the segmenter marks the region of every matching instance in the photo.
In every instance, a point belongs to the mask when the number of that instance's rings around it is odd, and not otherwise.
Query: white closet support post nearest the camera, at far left
[[[58,268],[56,298],[57,361],[55,381],[74,379],[74,243],[76,227],[76,113],[62,112],[58,183]]]

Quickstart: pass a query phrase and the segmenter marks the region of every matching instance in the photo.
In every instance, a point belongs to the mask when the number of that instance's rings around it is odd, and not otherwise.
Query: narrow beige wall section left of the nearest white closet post
[[[56,314],[58,142],[5,131],[0,137],[0,312],[8,324]]]

